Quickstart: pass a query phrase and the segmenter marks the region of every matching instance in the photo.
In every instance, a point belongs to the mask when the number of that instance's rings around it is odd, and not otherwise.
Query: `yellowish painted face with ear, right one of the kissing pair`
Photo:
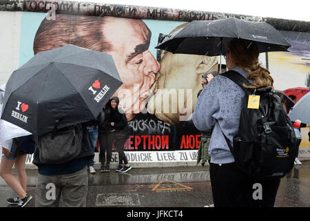
[[[217,57],[163,52],[149,113],[169,124],[182,124],[194,111],[201,75],[217,69]]]

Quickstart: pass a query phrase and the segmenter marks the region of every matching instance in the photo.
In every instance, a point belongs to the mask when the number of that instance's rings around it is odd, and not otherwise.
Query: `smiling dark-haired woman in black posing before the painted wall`
[[[101,172],[110,171],[112,144],[115,142],[118,152],[119,165],[116,172],[125,173],[132,169],[123,151],[124,144],[130,135],[127,118],[121,108],[118,107],[118,97],[112,97],[105,106],[105,121],[99,125],[99,145]],[[107,163],[105,164],[105,150],[107,150]],[[123,164],[123,165],[122,165]]]

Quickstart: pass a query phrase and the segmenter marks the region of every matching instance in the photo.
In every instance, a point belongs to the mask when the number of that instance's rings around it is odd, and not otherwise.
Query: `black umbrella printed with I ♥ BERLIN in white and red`
[[[121,86],[111,55],[78,46],[39,52],[15,70],[1,119],[34,135],[95,119]]]

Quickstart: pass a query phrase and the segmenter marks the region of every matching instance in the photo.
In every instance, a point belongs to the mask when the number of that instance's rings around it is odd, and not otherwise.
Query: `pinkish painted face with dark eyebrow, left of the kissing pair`
[[[112,55],[123,85],[114,96],[120,99],[128,121],[145,108],[145,99],[154,84],[160,64],[149,52],[151,32],[142,20],[108,17],[105,39],[112,45]]]

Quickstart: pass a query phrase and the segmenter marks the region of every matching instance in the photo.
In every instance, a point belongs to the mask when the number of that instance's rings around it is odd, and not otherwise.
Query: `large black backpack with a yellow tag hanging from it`
[[[271,87],[245,88],[243,83],[251,83],[236,71],[229,70],[223,76],[245,91],[233,146],[222,131],[236,165],[254,179],[284,177],[293,168],[299,142],[282,100]],[[249,95],[260,96],[259,108],[247,107]]]

